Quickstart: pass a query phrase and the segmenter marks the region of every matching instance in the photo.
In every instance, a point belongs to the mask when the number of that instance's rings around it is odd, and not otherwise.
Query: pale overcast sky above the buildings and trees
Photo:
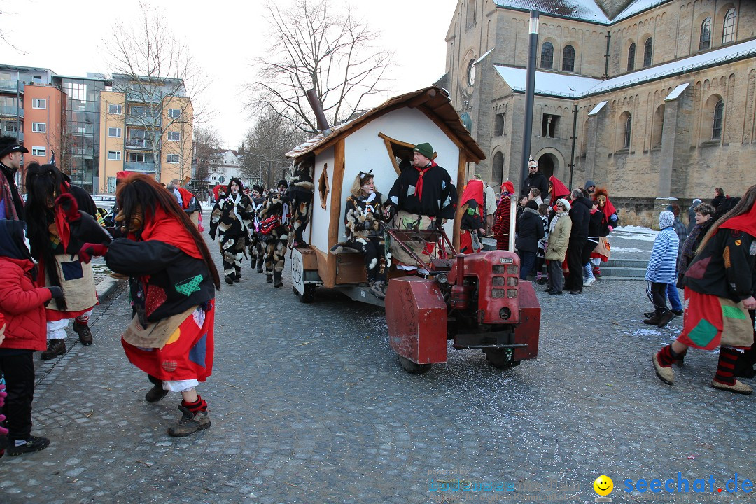
[[[288,0],[277,0],[283,6]],[[343,0],[333,0],[341,8]],[[383,46],[395,52],[392,92],[376,99],[431,85],[444,73],[446,32],[457,0],[380,0],[351,2],[370,28],[381,32]],[[264,54],[265,0],[160,2],[172,29],[184,38],[212,83],[203,99],[215,110],[212,123],[225,147],[239,146],[252,124],[243,110],[242,86],[254,79],[250,63]],[[138,0],[0,0],[0,23],[19,51],[0,45],[0,63],[39,66],[62,75],[110,73],[103,40],[116,20],[130,20]],[[170,10],[175,8],[175,10]],[[20,51],[23,51],[22,54]]]

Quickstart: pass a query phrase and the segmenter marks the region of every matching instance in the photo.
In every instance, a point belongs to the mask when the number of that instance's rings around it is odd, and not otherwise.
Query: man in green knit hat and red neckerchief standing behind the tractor
[[[433,160],[431,144],[417,144],[413,150],[414,169],[406,169],[396,178],[386,201],[385,215],[394,218],[399,229],[436,229],[457,210],[457,188],[448,172]],[[419,264],[397,243],[391,243],[392,261],[405,271],[415,271]],[[416,250],[423,253],[423,247]]]

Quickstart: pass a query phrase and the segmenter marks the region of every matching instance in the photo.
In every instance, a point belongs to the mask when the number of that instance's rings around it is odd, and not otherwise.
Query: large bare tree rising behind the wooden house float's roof
[[[331,124],[383,92],[380,79],[393,54],[376,47],[378,34],[355,12],[330,10],[328,0],[295,0],[281,11],[268,2],[270,46],[256,59],[259,79],[249,86],[253,113],[274,110],[305,133],[318,131],[305,96],[314,88]]]

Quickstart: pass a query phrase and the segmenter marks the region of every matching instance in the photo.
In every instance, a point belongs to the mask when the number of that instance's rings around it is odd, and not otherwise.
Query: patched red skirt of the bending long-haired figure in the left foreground
[[[130,363],[157,379],[204,382],[212,374],[214,326],[215,300],[211,300],[204,320],[194,311],[178,326],[178,335],[163,348],[139,348],[123,339],[121,345]]]

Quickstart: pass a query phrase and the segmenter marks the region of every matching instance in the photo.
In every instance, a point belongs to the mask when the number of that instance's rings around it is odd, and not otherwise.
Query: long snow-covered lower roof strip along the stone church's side
[[[663,76],[674,76],[678,73],[688,73],[705,66],[722,64],[730,60],[756,55],[756,39],[727,46],[726,48],[708,51],[705,54],[686,57],[658,66],[652,66],[637,72],[627,73],[602,81],[590,77],[573,76],[563,73],[540,72],[535,73],[535,93],[581,98],[592,94],[612,91],[631,84],[659,79]],[[502,79],[513,91],[525,91],[527,71],[513,66],[494,65]],[[680,90],[682,92],[682,90]]]

